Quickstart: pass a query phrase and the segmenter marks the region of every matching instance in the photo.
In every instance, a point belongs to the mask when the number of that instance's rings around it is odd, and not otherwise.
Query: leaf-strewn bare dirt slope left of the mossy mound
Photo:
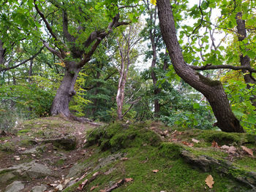
[[[35,161],[48,166],[56,174],[56,177],[28,180],[23,191],[30,191],[31,187],[39,184],[58,183],[58,180],[60,182],[68,174],[73,164],[84,155],[90,154],[89,150],[83,148],[83,142],[86,131],[93,127],[87,123],[67,121],[58,117],[26,121],[15,128],[15,134],[0,137],[0,169]],[[74,150],[64,150],[64,146],[55,145],[53,142],[42,142],[64,138],[67,135],[76,139],[77,145]],[[37,150],[33,150],[35,147]],[[26,153],[31,149],[31,153]],[[0,185],[0,191],[6,185]]]

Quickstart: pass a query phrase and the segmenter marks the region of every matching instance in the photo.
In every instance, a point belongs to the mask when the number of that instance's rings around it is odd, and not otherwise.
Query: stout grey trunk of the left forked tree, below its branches
[[[53,99],[53,104],[50,109],[51,115],[64,115],[65,117],[70,117],[71,113],[69,111],[69,101],[72,96],[75,96],[75,81],[78,78],[78,73],[80,68],[75,64],[75,62],[65,63],[67,67],[64,74],[63,80],[59,89]]]

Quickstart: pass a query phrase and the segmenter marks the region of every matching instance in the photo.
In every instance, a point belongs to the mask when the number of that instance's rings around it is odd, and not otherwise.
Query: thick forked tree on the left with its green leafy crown
[[[108,18],[102,20],[104,10],[94,9],[97,1],[50,1],[40,2],[34,0],[34,8],[45,23],[50,34],[49,39],[42,39],[48,50],[56,55],[64,64],[65,74],[61,85],[53,99],[51,114],[62,114],[71,117],[69,101],[75,95],[75,81],[80,69],[90,60],[102,39],[118,26],[127,25],[120,21],[120,13],[111,15],[111,9],[117,9],[116,4],[108,6],[112,21]],[[59,25],[61,18],[61,25]],[[96,24],[99,23],[97,26]],[[54,47],[53,47],[54,46]]]

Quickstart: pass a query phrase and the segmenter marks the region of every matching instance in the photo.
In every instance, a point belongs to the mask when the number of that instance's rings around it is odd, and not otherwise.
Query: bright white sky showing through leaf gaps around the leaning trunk
[[[200,0],[189,0],[188,2],[188,7],[192,8],[193,6],[197,5],[197,7],[200,4]],[[199,8],[198,8],[199,9]],[[208,10],[207,10],[208,11]],[[219,18],[221,16],[221,12],[220,9],[212,9],[211,10],[211,23],[214,23],[215,25],[217,25],[217,18]],[[146,24],[146,18],[147,16],[143,16],[140,18],[141,22]],[[194,23],[196,23],[197,20],[188,17],[187,19],[182,20],[181,25],[187,25],[187,26],[193,26]],[[206,31],[206,28],[200,28],[199,30],[199,34],[203,35],[203,33]],[[177,35],[179,35],[180,31],[177,31]],[[213,34],[213,39],[211,39],[210,35],[207,34],[208,36],[208,40],[209,40],[209,44],[211,47],[211,41],[214,41],[215,45],[219,45],[219,43],[221,42],[222,46],[227,46],[227,44],[222,40],[223,38],[226,37],[226,34],[223,33],[222,31],[218,31],[217,29],[214,31]],[[227,38],[227,37],[226,37]],[[184,44],[186,44],[189,41],[189,38],[186,39],[186,37],[184,37],[183,39]],[[150,44],[150,41],[146,41],[146,42],[141,42],[140,45],[138,46],[138,50],[140,51],[145,51],[148,50],[148,44]],[[197,45],[199,47],[199,45]],[[210,50],[206,50],[206,53],[208,53]],[[165,50],[162,50],[163,53],[165,53]],[[195,57],[200,57],[200,53],[195,53]],[[148,59],[147,61],[145,60],[145,56],[144,54],[140,55],[140,57],[138,57],[136,64],[135,64],[135,69],[137,69],[139,72],[143,72],[145,69],[148,69],[151,66],[151,59]]]

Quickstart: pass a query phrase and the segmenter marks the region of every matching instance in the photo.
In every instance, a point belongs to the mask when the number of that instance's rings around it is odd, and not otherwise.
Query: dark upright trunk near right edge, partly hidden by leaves
[[[241,42],[246,38],[246,27],[245,27],[245,20],[242,20],[242,12],[238,12],[236,14],[236,24],[238,29],[238,41]],[[250,58],[248,55],[240,55],[240,64],[241,66],[251,66]],[[252,73],[248,72],[246,69],[242,70],[244,74],[244,81],[247,84],[247,88],[251,88],[249,84],[255,84],[256,80],[252,77]],[[256,107],[256,96],[252,96],[251,98],[252,105]]]

